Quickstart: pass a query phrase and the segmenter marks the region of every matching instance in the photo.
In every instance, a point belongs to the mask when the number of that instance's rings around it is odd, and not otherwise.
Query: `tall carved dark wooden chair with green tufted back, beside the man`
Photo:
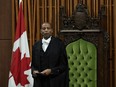
[[[79,3],[72,13],[68,17],[60,8],[58,34],[69,57],[70,87],[110,87],[109,35],[101,28],[102,10],[90,17],[87,6]]]

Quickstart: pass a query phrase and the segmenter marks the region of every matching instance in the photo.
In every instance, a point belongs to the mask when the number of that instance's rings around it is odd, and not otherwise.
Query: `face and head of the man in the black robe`
[[[43,23],[41,28],[41,34],[45,39],[48,39],[53,33],[53,30],[49,23]]]

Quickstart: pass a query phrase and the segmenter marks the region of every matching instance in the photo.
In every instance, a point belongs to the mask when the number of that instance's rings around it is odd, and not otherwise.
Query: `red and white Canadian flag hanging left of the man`
[[[8,87],[33,87],[30,65],[27,32],[25,29],[22,2],[20,2]]]

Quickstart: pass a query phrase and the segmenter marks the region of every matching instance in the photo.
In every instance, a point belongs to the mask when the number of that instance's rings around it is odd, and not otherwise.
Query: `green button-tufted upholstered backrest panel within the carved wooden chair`
[[[97,87],[97,49],[79,39],[66,47],[69,63],[70,87]]]

